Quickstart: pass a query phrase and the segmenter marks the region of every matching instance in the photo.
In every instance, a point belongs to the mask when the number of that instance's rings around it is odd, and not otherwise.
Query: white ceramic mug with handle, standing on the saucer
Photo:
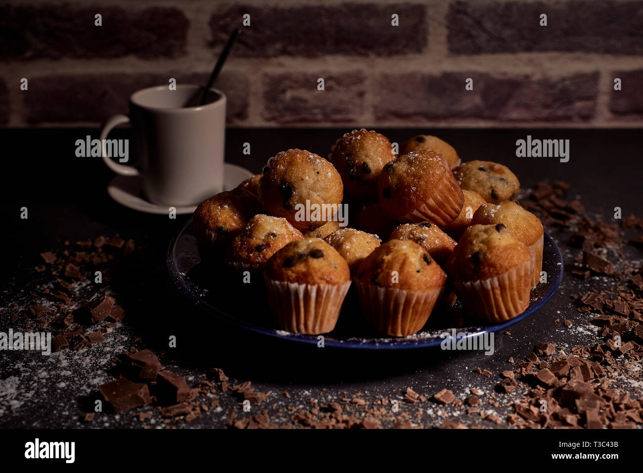
[[[140,176],[152,203],[195,205],[222,190],[226,96],[210,89],[206,104],[199,106],[202,94],[203,87],[189,85],[141,89],[129,98],[129,116],[114,115],[102,126],[105,164],[118,174]],[[136,167],[107,156],[107,134],[128,122]]]

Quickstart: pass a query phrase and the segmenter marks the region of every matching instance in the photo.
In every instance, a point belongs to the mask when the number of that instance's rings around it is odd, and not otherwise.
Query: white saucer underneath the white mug
[[[223,190],[237,187],[241,181],[251,178],[254,174],[248,169],[231,163],[223,163]],[[107,194],[116,202],[133,210],[148,214],[167,214],[167,205],[159,205],[145,200],[141,196],[141,181],[138,176],[116,176],[107,185]],[[176,207],[177,214],[192,214],[196,205],[181,205]]]

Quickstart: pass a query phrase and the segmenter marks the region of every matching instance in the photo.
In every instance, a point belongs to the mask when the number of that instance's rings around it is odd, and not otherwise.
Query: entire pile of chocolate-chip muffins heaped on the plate
[[[461,163],[435,136],[415,136],[397,155],[361,129],[328,159],[300,149],[270,158],[262,174],[201,203],[194,230],[208,264],[263,274],[280,329],[332,331],[354,284],[366,324],[405,337],[440,298],[457,297],[486,323],[529,306],[543,226],[514,202],[519,189],[507,167]],[[350,228],[340,228],[342,205]]]

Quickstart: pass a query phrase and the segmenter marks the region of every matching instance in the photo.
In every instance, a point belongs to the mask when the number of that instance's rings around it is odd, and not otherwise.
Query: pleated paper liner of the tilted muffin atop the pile
[[[430,221],[438,227],[446,227],[454,221],[462,210],[464,196],[462,189],[448,172],[433,189],[431,197],[406,214],[403,219],[410,222]]]

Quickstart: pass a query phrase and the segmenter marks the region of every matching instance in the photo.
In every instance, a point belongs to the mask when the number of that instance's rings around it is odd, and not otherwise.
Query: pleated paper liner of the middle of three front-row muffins
[[[409,291],[354,281],[367,323],[391,337],[406,337],[420,331],[444,290]]]

